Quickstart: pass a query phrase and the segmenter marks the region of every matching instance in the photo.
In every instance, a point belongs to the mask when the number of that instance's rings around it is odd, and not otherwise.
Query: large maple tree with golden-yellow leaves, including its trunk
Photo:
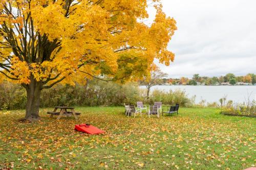
[[[39,118],[41,90],[57,83],[127,81],[150,75],[154,59],[169,65],[176,21],[153,2],[147,26],[146,0],[1,0],[0,72],[27,90],[25,119]]]

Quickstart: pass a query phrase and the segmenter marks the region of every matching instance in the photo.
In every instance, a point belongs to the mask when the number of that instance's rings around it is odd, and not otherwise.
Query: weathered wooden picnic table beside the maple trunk
[[[59,112],[57,110],[60,109]],[[68,111],[70,110],[70,111]],[[61,118],[61,116],[70,116],[73,115],[75,119],[77,119],[77,115],[80,115],[81,113],[75,112],[74,107],[67,107],[67,106],[56,106],[52,112],[47,112],[47,114],[51,114],[51,118],[54,115],[58,115],[57,120]]]

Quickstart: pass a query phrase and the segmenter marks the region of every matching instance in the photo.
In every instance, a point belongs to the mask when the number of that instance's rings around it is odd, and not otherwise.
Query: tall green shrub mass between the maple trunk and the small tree
[[[138,100],[139,88],[99,80],[86,86],[57,85],[41,93],[41,107],[67,106],[118,106]]]

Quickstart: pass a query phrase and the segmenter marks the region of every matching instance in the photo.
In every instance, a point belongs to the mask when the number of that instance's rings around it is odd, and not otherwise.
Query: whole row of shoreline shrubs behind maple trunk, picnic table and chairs
[[[145,89],[139,88],[136,83],[117,84],[90,80],[87,85],[61,85],[51,89],[44,89],[40,96],[40,107],[55,106],[123,106],[131,104],[136,106],[137,101],[152,105],[155,101],[163,105],[175,105],[192,107],[194,99],[188,98],[184,90],[151,92],[150,98],[146,98]],[[0,110],[24,109],[26,106],[26,91],[20,85],[10,82],[0,84]]]

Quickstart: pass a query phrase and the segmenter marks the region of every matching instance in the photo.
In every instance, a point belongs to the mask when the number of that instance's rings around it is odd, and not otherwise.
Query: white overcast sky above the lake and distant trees
[[[178,30],[168,45],[170,66],[158,64],[170,78],[256,74],[255,0],[163,0],[163,11]],[[152,22],[155,12],[148,9]]]

